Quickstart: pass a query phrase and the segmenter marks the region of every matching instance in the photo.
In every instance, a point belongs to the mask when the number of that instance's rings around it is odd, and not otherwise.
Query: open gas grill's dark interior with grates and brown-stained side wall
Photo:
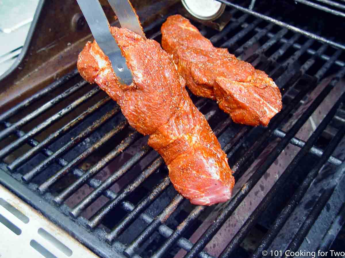
[[[76,58],[90,32],[75,1],[53,2],[39,3],[18,65],[2,76],[2,186],[101,257],[344,251],[343,1],[222,0],[229,22],[220,31],[192,21],[215,46],[265,71],[283,96],[268,127],[253,128],[190,93],[236,179],[231,200],[210,207],[178,194],[147,137],[81,78]],[[169,15],[190,18],[179,1],[131,2],[158,42]]]

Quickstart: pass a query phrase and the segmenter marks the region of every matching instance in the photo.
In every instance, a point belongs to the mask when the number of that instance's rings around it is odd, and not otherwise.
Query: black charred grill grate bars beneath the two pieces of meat
[[[204,207],[184,200],[172,189],[164,162],[145,138],[129,127],[114,101],[87,85],[76,70],[0,116],[1,184],[103,257],[179,257],[180,248],[187,257],[213,257],[217,252],[229,257],[242,248],[256,225],[265,224],[265,212],[303,167],[298,185],[277,207],[252,256],[278,245],[298,250],[331,206],[328,224],[317,231],[321,239],[313,246],[327,250],[344,222],[345,200],[334,201],[343,191],[344,157],[337,153],[345,141],[345,95],[339,86],[345,75],[344,53],[236,9],[230,13],[232,22],[221,32],[197,26],[214,45],[228,47],[267,72],[281,89],[284,106],[267,128],[252,128],[235,125],[212,101],[191,96],[235,171],[230,202]],[[147,35],[159,41],[163,21],[146,28]],[[324,103],[327,96],[333,96],[331,104]],[[315,122],[315,113],[326,107]],[[313,133],[301,139],[298,133],[309,121],[316,123]],[[284,152],[297,147],[252,205],[251,194],[269,178],[267,171]],[[111,173],[105,175],[107,168]],[[311,196],[315,200],[308,202]],[[243,214],[242,223],[231,225],[248,202],[253,208]],[[288,239],[282,238],[301,203],[308,205],[298,218],[300,226],[290,230]],[[136,230],[138,225],[142,229]],[[222,230],[230,225],[224,237]],[[218,248],[223,252],[210,248],[221,233],[227,240]],[[201,236],[193,240],[195,245],[189,240],[194,234]]]

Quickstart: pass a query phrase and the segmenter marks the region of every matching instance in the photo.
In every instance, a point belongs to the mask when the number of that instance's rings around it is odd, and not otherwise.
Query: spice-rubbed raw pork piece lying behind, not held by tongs
[[[265,72],[214,47],[188,19],[172,15],[163,23],[162,47],[198,96],[217,100],[236,123],[267,126],[282,109],[279,88]]]

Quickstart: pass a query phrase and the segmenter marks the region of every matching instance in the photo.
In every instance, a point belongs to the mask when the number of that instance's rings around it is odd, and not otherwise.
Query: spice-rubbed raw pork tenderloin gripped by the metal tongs
[[[211,205],[231,197],[234,177],[226,154],[207,120],[194,106],[171,57],[154,40],[111,28],[128,68],[131,85],[118,83],[108,57],[88,42],[78,70],[117,101],[129,124],[163,157],[175,189],[193,204]]]

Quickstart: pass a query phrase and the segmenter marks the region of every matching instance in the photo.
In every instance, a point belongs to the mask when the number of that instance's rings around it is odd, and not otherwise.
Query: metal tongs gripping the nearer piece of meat
[[[114,37],[110,33],[108,19],[98,0],[77,0],[79,7],[90,27],[93,37],[104,54],[109,57],[112,68],[120,83],[130,85],[133,75],[126,65],[126,59]],[[127,28],[146,39],[138,17],[128,0],[108,0],[114,10],[121,27]]]

